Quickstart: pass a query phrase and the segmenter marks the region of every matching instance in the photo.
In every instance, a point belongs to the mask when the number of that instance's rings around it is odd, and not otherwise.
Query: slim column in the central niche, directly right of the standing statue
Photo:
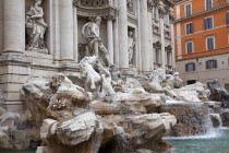
[[[109,51],[110,62],[113,63],[113,16],[107,16],[107,45]]]

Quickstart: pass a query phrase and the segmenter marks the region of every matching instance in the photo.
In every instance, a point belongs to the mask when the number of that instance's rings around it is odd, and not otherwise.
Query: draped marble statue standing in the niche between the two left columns
[[[40,4],[41,0],[36,0],[35,5],[32,5],[31,9],[26,12],[26,33],[28,35],[28,50],[46,50],[44,36],[48,25],[44,21],[44,11]]]

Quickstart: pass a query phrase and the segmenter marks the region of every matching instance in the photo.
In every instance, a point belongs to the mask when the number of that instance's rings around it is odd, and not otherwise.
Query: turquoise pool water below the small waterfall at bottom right
[[[165,138],[178,153],[229,153],[229,129],[221,128],[205,136]]]

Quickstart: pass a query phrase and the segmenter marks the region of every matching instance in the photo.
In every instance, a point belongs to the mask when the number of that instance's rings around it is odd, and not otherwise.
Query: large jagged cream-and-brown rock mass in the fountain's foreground
[[[65,152],[70,148],[103,152],[109,145],[110,151],[131,151],[148,143],[154,143],[149,149],[154,150],[177,121],[170,114],[155,114],[165,103],[162,95],[133,89],[92,99],[92,93],[74,85],[63,74],[53,75],[49,82],[27,83],[22,95],[32,113],[31,120],[41,127],[43,144]],[[56,149],[38,148],[37,152],[46,150]]]

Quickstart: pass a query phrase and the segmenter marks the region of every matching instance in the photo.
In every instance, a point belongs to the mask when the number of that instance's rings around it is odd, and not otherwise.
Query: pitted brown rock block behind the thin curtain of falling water
[[[172,137],[196,136],[205,133],[212,128],[206,103],[162,104],[160,111],[169,113],[178,120],[169,133]]]

